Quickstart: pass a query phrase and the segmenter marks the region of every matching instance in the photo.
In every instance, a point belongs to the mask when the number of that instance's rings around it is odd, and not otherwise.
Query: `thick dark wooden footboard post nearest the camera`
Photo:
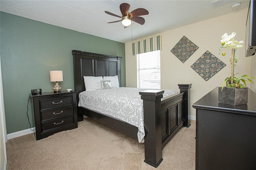
[[[164,91],[141,91],[144,109],[145,127],[145,160],[151,166],[158,167],[162,162],[162,128],[161,128],[161,99]]]

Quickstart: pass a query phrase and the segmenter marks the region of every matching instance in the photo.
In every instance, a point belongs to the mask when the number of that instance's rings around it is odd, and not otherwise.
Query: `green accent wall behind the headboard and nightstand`
[[[86,29],[86,28],[85,28]],[[104,29],[104,28],[102,28]],[[72,50],[122,57],[121,85],[125,87],[125,44],[0,13],[0,52],[7,134],[30,128],[31,89],[52,91],[50,70],[62,70],[62,89],[74,89]],[[27,117],[28,105],[28,117]]]

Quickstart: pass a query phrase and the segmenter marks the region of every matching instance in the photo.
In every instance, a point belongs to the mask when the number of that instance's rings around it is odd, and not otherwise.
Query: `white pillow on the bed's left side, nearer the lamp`
[[[84,76],[84,85],[86,91],[98,90],[101,89],[101,83],[103,81],[102,76]]]

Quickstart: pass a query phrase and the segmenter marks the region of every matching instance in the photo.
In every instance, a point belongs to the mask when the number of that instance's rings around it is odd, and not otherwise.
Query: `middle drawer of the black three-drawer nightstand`
[[[63,116],[73,115],[73,107],[62,107],[60,109],[54,109],[50,111],[41,112],[42,121],[49,119],[55,119]]]

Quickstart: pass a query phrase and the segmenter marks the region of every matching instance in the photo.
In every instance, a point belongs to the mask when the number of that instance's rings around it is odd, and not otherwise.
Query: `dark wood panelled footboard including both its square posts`
[[[183,126],[190,126],[190,88],[179,84],[180,93],[163,97],[164,91],[142,91],[145,127],[144,162],[158,167],[162,162],[162,148]]]

